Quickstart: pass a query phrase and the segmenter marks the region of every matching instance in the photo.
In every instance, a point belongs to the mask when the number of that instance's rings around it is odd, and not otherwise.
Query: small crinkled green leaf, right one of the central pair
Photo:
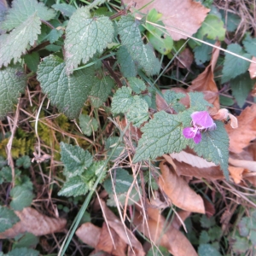
[[[140,96],[133,96],[133,102],[129,108],[127,119],[134,126],[140,126],[148,120],[148,103]]]

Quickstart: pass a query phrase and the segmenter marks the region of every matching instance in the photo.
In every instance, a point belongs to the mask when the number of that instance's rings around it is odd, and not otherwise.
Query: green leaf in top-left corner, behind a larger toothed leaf
[[[55,17],[53,9],[48,9],[44,6],[44,3],[38,3],[37,0],[15,0],[1,27],[6,30],[12,30],[22,23],[26,25],[26,20],[35,13],[41,20],[51,20]],[[20,35],[20,37],[22,36]]]

